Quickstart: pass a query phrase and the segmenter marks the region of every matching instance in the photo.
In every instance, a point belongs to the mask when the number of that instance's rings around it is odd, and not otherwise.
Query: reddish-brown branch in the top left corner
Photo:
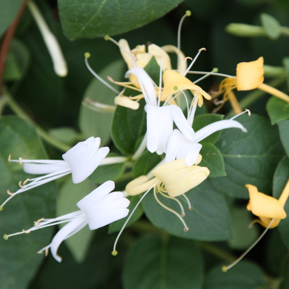
[[[2,76],[4,73],[4,66],[6,63],[6,56],[7,56],[7,52],[9,50],[13,35],[15,33],[15,30],[17,28],[18,22],[26,8],[28,0],[23,0],[17,14],[16,17],[14,18],[13,22],[11,23],[11,25],[8,27],[7,32],[3,38],[2,41],[2,47],[0,50],[0,92],[1,92],[1,87],[2,87]]]

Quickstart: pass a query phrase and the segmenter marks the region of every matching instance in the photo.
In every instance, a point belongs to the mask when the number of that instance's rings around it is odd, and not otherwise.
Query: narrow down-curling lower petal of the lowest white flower
[[[57,255],[58,247],[60,246],[62,241],[72,236],[73,234],[77,233],[86,224],[87,224],[87,219],[86,219],[86,216],[83,215],[70,221],[68,224],[66,224],[63,228],[61,228],[56,233],[56,235],[53,237],[50,243],[50,251],[56,261],[60,263],[62,260],[62,258],[59,255]]]

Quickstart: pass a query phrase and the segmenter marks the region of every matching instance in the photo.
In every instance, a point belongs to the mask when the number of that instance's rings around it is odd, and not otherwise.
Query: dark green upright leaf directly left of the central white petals
[[[111,137],[115,146],[123,154],[133,154],[134,145],[146,132],[146,113],[144,100],[137,110],[117,105],[111,124]]]

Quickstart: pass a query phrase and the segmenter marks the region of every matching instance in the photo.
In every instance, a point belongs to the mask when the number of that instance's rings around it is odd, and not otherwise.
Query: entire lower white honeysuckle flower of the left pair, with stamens
[[[38,251],[38,253],[42,253],[43,251],[47,253],[50,248],[54,259],[61,262],[62,258],[57,254],[57,250],[64,240],[80,231],[87,224],[90,230],[95,230],[128,215],[129,209],[127,207],[129,206],[129,200],[124,198],[122,192],[111,192],[113,189],[114,182],[111,180],[106,181],[76,204],[80,208],[79,211],[53,219],[42,218],[34,222],[34,227],[22,232],[4,235],[4,239],[7,240],[11,236],[30,233],[40,228],[68,222],[56,233],[48,246]]]

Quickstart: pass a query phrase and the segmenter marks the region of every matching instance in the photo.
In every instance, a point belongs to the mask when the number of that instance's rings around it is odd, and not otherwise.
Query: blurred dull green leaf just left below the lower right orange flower
[[[248,228],[248,224],[252,220],[252,214],[245,207],[240,208],[237,206],[233,206],[230,209],[230,213],[233,238],[228,243],[233,249],[247,249],[259,236],[257,226]]]

